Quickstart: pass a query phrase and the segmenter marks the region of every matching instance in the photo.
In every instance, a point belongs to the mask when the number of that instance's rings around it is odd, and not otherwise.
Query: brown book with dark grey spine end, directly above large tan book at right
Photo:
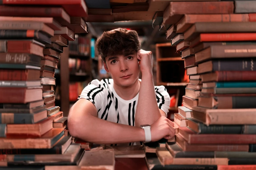
[[[225,96],[199,96],[198,106],[206,108],[218,108],[218,109],[231,109],[231,108],[255,108],[253,101],[256,100],[256,95],[253,94],[241,94],[225,95]]]

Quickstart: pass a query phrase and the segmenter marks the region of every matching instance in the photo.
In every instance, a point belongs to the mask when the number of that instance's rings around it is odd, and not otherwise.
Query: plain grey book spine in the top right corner
[[[255,13],[255,1],[235,1],[235,13]]]

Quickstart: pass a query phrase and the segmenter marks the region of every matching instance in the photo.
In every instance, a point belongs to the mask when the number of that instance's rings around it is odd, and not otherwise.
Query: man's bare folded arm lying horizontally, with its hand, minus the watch
[[[116,144],[144,141],[144,130],[124,124],[113,123],[96,117],[97,110],[90,101],[79,99],[70,109],[68,129],[72,136],[96,144]],[[159,119],[151,128],[152,141],[165,137],[169,139],[175,132],[170,130],[170,120]]]

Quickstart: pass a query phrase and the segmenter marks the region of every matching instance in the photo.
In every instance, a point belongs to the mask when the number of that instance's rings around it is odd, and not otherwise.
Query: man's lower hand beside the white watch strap
[[[175,135],[173,122],[164,116],[161,116],[151,125],[151,141],[155,142],[162,138],[171,139]]]

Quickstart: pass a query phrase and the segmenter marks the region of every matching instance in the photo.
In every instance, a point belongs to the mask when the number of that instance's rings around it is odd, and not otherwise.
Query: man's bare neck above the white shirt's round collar
[[[141,83],[139,81],[139,78],[135,81],[134,84],[128,87],[118,86],[115,83],[113,84],[114,90],[116,94],[121,97],[124,100],[131,100],[133,99],[138,92],[140,91]]]

